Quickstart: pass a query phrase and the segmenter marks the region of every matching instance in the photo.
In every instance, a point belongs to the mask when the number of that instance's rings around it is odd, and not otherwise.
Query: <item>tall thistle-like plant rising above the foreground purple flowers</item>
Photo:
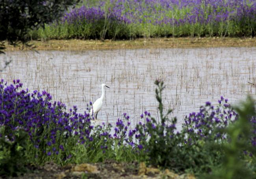
[[[178,149],[179,135],[174,132],[176,129],[176,118],[169,119],[168,115],[172,112],[171,109],[167,113],[163,112],[162,91],[165,88],[163,81],[156,80],[156,99],[158,100],[158,109],[160,112],[161,123],[158,124],[156,119],[150,116],[147,111],[141,114],[141,118],[146,118],[145,124],[138,124],[137,138],[139,140],[138,148],[141,153],[147,153],[148,160],[151,164],[160,165],[163,167],[173,167],[177,162],[174,161]]]

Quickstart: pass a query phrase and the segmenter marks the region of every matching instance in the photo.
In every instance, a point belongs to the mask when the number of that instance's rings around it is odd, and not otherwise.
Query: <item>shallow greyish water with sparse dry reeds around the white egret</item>
[[[159,120],[155,79],[165,82],[163,101],[174,109],[178,128],[206,101],[217,104],[224,96],[236,104],[247,94],[256,96],[256,86],[248,83],[256,84],[256,48],[8,52],[0,55],[1,66],[9,59],[1,78],[20,79],[31,92],[45,89],[80,113],[106,83],[110,89],[97,118],[111,124],[124,112],[136,124],[145,110]]]

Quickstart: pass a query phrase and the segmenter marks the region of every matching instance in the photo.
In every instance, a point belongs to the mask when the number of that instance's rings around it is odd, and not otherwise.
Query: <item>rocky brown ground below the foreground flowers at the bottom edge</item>
[[[0,177],[1,178],[1,177]],[[168,169],[147,167],[145,163],[117,163],[107,161],[96,164],[68,164],[58,166],[46,163],[32,168],[32,172],[19,176],[20,179],[195,179],[193,174],[178,175]]]

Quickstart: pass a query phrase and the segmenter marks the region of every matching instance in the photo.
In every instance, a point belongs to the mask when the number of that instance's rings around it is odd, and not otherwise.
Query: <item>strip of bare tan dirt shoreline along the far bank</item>
[[[6,52],[17,50],[30,50],[22,46],[13,47],[6,44]],[[216,48],[216,47],[253,47],[256,46],[256,38],[236,37],[180,37],[180,38],[141,38],[135,40],[49,40],[30,41],[35,50],[117,50],[140,48]]]

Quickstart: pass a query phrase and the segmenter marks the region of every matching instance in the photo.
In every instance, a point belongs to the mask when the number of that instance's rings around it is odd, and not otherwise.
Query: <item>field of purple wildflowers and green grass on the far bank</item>
[[[254,0],[106,0],[71,9],[33,39],[255,36]]]

